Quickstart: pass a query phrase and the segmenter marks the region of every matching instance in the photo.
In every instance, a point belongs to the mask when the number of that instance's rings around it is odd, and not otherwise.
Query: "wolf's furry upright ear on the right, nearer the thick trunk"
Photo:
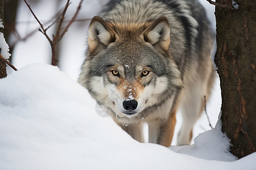
[[[152,45],[160,45],[167,50],[170,45],[170,25],[168,19],[162,16],[148,24],[144,32],[144,40]]]

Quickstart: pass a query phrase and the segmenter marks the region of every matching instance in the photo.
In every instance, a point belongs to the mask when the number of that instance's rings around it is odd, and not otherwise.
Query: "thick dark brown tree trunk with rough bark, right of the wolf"
[[[215,62],[221,85],[222,132],[231,140],[232,154],[242,158],[256,147],[256,3],[236,2],[236,10],[216,6]]]

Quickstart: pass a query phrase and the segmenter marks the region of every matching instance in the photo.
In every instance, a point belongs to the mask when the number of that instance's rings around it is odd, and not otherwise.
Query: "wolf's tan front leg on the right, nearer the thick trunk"
[[[167,119],[155,119],[148,122],[148,142],[171,146],[174,128],[176,124],[176,112],[170,113]]]

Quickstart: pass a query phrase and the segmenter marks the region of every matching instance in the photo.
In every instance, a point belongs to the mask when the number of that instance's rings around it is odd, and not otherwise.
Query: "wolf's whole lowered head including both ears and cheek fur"
[[[133,117],[181,87],[170,55],[166,17],[146,23],[114,23],[95,16],[79,83],[104,108]]]

